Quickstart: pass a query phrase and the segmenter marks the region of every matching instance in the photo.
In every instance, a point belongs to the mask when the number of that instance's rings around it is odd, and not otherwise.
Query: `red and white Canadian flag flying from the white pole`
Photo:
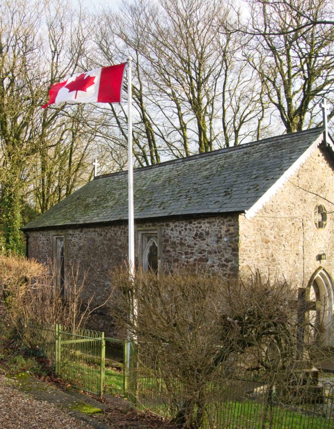
[[[118,103],[121,102],[123,76],[127,63],[97,68],[71,76],[51,86],[49,102]]]

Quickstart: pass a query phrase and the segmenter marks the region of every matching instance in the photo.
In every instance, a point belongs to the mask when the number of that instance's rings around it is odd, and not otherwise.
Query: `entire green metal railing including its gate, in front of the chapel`
[[[61,379],[75,388],[102,396],[105,341],[122,343],[121,340],[105,338],[103,333],[88,329],[73,330],[60,325],[35,331],[39,348],[54,363]],[[181,383],[164,380],[160,369],[158,356],[149,356],[135,342],[125,342],[123,380],[128,399],[138,408],[170,418],[186,396]],[[275,389],[268,388],[265,380],[243,375],[243,379],[226,383],[223,375],[217,373],[207,386],[209,401],[203,429],[334,428],[334,384],[323,385],[323,393],[317,394],[316,400],[289,405],[280,400]]]

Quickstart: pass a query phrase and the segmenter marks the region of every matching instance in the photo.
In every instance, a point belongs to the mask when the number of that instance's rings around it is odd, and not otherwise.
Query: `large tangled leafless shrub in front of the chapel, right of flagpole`
[[[189,270],[129,280],[124,270],[114,284],[123,290],[130,316],[122,323],[138,343],[138,361],[163,380],[174,422],[200,428],[213,396],[247,371],[279,391],[296,355],[296,295],[287,282]]]

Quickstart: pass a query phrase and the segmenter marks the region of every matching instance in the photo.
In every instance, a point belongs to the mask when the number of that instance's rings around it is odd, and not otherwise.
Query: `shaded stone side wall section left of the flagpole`
[[[112,294],[108,306],[92,313],[88,327],[104,331],[106,336],[117,335],[112,314],[118,306],[119,291],[113,290],[110,271],[119,266],[127,255],[127,227],[123,225],[100,228],[64,228],[31,231],[28,233],[28,257],[42,263],[53,262],[53,237],[64,236],[65,276],[79,270],[78,286],[84,285],[81,295],[84,304],[92,299],[90,308],[101,305]],[[70,284],[72,281],[70,279]]]

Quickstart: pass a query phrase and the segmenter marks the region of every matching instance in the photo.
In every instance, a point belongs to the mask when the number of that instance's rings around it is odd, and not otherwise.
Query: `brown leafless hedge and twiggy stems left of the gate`
[[[54,267],[20,257],[0,257],[0,283],[8,322],[22,342],[35,347],[36,328],[59,323],[73,329],[83,327],[94,311],[81,299],[86,276],[79,281],[79,266],[71,266],[65,279],[66,299],[55,286]],[[102,304],[104,305],[104,303]]]

